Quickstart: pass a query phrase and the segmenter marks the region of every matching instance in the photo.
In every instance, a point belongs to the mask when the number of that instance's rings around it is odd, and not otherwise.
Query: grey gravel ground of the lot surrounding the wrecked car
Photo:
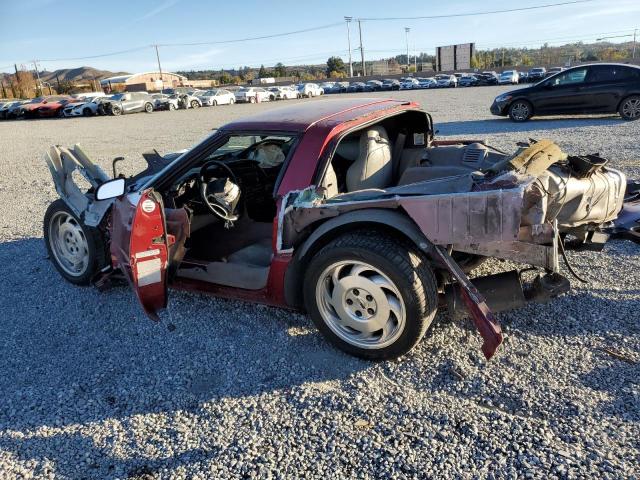
[[[549,137],[640,177],[640,122],[513,124],[488,112],[505,90],[391,96],[421,102],[443,136],[508,150]],[[73,287],[47,261],[50,144],[80,142],[108,168],[279,106],[0,123],[0,477],[638,478],[638,245],[570,253],[591,283],[500,315],[490,362],[465,323],[437,322],[385,363],[342,355],[305,316],[201,295],[171,292],[156,324],[128,289]]]

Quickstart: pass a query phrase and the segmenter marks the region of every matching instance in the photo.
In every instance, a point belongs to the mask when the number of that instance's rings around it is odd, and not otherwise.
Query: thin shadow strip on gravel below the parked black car
[[[477,136],[480,134],[560,130],[578,127],[613,127],[625,123],[627,122],[622,120],[620,117],[543,117],[533,118],[525,123],[512,122],[507,118],[493,118],[487,120],[465,120],[460,122],[436,123],[436,129],[440,135]]]

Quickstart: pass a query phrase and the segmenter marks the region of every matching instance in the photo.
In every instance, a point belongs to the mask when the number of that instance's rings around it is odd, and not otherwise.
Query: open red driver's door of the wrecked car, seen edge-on
[[[158,320],[158,310],[167,306],[169,256],[162,197],[149,189],[119,198],[112,222],[112,263],[128,278],[147,315]]]

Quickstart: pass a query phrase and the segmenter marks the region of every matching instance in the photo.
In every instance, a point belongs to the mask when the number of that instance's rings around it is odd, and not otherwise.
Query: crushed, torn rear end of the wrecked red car
[[[346,228],[340,217],[396,228],[439,273],[441,305],[453,316],[471,317],[489,359],[502,342],[493,313],[566,293],[570,282],[560,273],[565,250],[598,250],[609,238],[626,178],[606,163],[599,156],[567,156],[541,140],[469,174],[329,199],[313,188],[293,192],[283,201],[278,245],[300,256],[321,225]],[[329,230],[326,225],[321,228]],[[470,280],[467,273],[487,257],[525,267]],[[524,282],[528,270],[538,274]]]

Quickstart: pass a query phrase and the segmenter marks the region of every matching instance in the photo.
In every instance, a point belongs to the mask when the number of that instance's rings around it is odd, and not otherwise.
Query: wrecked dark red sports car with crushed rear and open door
[[[168,287],[299,309],[370,359],[411,350],[447,307],[472,318],[490,358],[492,311],[566,292],[560,255],[601,248],[626,179],[546,140],[511,155],[433,131],[415,103],[351,98],[230,123],[182,154],[145,154],[130,178],[118,159],[112,179],[80,146],[52,147],[49,255],[76,284],[128,279],[151,317]],[[540,273],[470,281],[487,257]]]

